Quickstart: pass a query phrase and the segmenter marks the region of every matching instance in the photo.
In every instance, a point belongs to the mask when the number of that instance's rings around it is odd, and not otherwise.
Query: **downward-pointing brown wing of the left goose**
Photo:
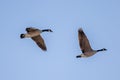
[[[42,38],[40,35],[35,36],[35,37],[32,37],[32,40],[34,40],[35,43],[36,43],[42,50],[47,51],[45,42],[44,42],[43,38]]]

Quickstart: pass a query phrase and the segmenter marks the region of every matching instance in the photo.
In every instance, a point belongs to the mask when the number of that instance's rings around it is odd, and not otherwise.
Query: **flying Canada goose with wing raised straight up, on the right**
[[[78,30],[78,39],[79,39],[79,45],[82,51],[82,54],[76,56],[76,58],[81,57],[90,57],[94,54],[96,54],[99,51],[106,51],[107,49],[99,49],[99,50],[93,50],[89,44],[89,40],[87,39],[85,33],[83,32],[82,28]]]

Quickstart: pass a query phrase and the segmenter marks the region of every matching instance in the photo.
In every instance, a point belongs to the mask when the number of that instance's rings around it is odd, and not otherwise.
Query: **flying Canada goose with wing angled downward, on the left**
[[[40,33],[42,32],[53,32],[51,29],[44,29],[44,30],[39,30],[33,27],[28,27],[26,28],[27,33],[26,34],[21,34],[20,38],[31,38],[35,43],[43,50],[46,51],[46,45],[43,40],[43,38],[40,36]]]

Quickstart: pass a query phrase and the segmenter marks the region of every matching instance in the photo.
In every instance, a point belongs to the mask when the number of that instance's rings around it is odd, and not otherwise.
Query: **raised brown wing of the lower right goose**
[[[87,39],[85,33],[83,32],[82,28],[78,30],[78,38],[79,38],[79,45],[82,52],[91,51],[92,48],[89,44],[89,40]]]

